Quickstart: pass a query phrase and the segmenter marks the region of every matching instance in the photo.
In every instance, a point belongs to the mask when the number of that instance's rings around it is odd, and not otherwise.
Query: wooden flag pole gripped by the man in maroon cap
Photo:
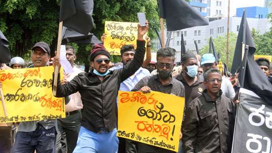
[[[62,21],[58,25],[58,38],[57,38],[57,58],[59,59],[60,55],[60,45],[61,45],[61,35],[62,35]],[[56,96],[57,93],[57,77],[58,77],[58,65],[55,66],[54,69],[54,86],[53,86],[53,95]]]

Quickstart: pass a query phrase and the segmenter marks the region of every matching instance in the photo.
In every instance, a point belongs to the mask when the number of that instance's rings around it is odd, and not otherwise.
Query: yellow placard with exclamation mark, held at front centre
[[[117,136],[178,152],[184,98],[119,91]]]

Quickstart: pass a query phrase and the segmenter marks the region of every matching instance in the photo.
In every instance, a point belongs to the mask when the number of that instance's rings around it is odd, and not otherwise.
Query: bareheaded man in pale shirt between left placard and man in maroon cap
[[[76,60],[75,49],[72,46],[66,45],[66,59],[71,64],[74,72],[64,74],[63,83],[71,81],[80,73],[85,73],[76,67],[74,61]],[[65,106],[66,118],[58,118],[58,135],[56,142],[56,153],[72,153],[77,145],[79,130],[81,126],[81,109],[83,107],[81,95],[79,92],[69,95],[70,101]],[[66,140],[66,142],[65,142]],[[64,141],[64,142],[63,142]]]

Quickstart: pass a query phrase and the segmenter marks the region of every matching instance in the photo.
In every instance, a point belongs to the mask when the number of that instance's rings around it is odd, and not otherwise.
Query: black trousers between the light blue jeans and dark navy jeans
[[[81,112],[57,119],[56,153],[73,153],[81,127]]]

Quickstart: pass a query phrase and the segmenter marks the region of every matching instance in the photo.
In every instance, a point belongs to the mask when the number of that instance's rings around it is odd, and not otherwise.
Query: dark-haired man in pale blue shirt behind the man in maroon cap
[[[149,42],[147,41],[147,43],[150,43],[150,41]],[[116,69],[123,68],[125,65],[131,63],[135,55],[135,49],[132,44],[122,46],[120,52],[121,52],[123,65],[120,65],[118,67],[112,67],[109,70],[113,71]],[[125,81],[121,83],[119,90],[131,91],[136,85],[136,83],[138,83],[138,81],[145,76],[150,76],[149,71],[140,67],[134,75],[130,76],[129,78],[127,78]],[[117,103],[118,103],[118,97],[117,97]],[[126,150],[126,139],[120,138],[120,137],[118,137],[118,139],[119,139],[118,153],[124,153]]]

